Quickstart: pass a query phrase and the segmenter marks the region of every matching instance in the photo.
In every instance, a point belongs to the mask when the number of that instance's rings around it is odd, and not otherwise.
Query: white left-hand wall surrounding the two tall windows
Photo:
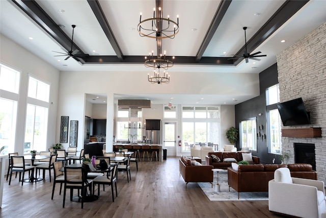
[[[11,65],[15,69],[21,71],[20,89],[19,89],[19,104],[18,118],[16,127],[15,152],[20,155],[23,153],[24,145],[24,129],[25,129],[25,114],[26,114],[26,94],[28,88],[28,75],[50,84],[50,98],[48,110],[48,134],[46,149],[53,147],[53,144],[59,142],[59,137],[56,137],[56,131],[60,131],[60,126],[56,126],[58,109],[58,90],[60,72],[52,65],[38,58],[34,54],[26,51],[23,47],[11,41],[4,35],[1,36],[0,58],[4,64]]]

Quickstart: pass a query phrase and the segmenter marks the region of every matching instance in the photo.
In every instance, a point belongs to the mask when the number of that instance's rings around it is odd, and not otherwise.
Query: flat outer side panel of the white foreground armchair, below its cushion
[[[317,199],[317,188],[314,186],[275,182],[274,179],[268,182],[270,211],[298,217],[318,217]]]

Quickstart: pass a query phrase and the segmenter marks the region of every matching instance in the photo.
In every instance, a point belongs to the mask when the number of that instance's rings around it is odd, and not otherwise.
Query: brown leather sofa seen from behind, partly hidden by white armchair
[[[291,177],[317,180],[317,172],[308,163],[239,165],[238,171],[228,168],[229,190],[230,187],[236,190],[238,198],[240,192],[268,191],[268,182],[274,179],[274,172],[280,167],[288,167]]]

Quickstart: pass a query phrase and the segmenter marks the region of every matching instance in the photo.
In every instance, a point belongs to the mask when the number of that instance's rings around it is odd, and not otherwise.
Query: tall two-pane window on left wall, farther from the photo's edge
[[[24,153],[46,148],[50,85],[29,77]]]

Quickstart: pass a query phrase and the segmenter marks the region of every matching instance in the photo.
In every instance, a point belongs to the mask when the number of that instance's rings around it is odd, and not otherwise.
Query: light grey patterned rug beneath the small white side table
[[[201,189],[206,194],[210,201],[263,201],[268,200],[268,192],[240,192],[240,199],[238,199],[238,192],[228,185],[228,172],[223,171],[219,173],[219,184],[221,191],[215,191],[217,174],[214,172],[213,188],[209,182],[198,182]]]

